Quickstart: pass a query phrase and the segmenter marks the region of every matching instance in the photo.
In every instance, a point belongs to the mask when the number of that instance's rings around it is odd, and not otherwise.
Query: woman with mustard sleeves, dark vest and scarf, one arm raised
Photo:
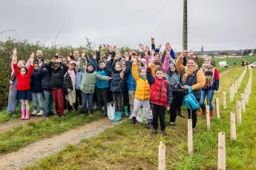
[[[197,61],[195,58],[193,57],[188,58],[188,63],[186,64],[186,67],[185,67],[182,64],[183,57],[184,57],[184,52],[180,54],[180,57],[177,58],[177,61],[176,61],[177,71],[181,75],[181,85],[183,86],[183,89],[188,89],[188,86],[191,86],[194,97],[199,102],[201,97],[201,89],[206,84],[206,78],[203,72],[200,69],[198,69]],[[181,105],[181,103],[177,105]],[[191,116],[192,116],[192,128],[193,128],[193,134],[194,134],[195,133],[194,128],[197,125],[197,109],[194,109],[194,110],[188,109],[188,119],[191,118]]]

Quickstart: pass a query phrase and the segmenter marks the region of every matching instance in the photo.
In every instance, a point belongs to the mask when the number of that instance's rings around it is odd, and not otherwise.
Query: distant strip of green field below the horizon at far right
[[[226,61],[229,64],[229,67],[233,67],[234,61],[236,61],[237,66],[242,66],[242,59],[245,59],[246,61],[256,61],[256,56],[244,56],[243,58],[214,58],[213,61],[215,61],[216,68],[220,68],[219,62],[220,61]]]

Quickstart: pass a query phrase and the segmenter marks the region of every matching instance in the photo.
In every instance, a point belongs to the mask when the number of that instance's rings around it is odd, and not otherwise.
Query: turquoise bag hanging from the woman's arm
[[[188,94],[183,99],[183,105],[186,105],[187,109],[199,109],[199,103],[194,97],[193,92],[191,92],[191,86],[188,86]],[[182,106],[183,106],[182,105]]]

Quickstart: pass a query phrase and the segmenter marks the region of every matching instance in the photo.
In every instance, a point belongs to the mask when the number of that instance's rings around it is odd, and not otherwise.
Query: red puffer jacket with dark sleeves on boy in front
[[[150,84],[151,103],[160,106],[170,106],[172,101],[171,84],[164,78],[154,78],[151,71],[147,71],[148,84]]]

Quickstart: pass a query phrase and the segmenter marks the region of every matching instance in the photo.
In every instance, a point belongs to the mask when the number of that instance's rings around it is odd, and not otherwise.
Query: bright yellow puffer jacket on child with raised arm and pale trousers
[[[145,81],[140,78],[137,64],[132,64],[132,75],[134,80],[137,83],[135,98],[145,101],[150,98],[150,86],[148,84],[148,80]]]

